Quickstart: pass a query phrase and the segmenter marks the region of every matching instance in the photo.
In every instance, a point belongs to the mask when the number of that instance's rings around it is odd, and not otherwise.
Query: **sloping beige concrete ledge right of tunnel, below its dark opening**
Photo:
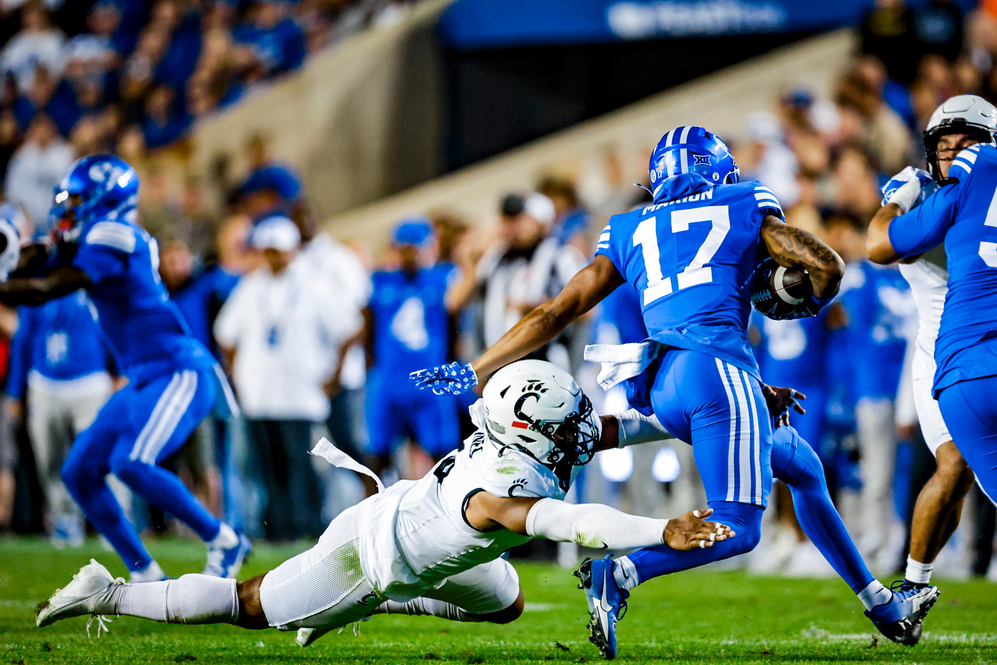
[[[703,125],[737,139],[745,116],[772,111],[778,95],[788,88],[802,85],[819,99],[830,98],[833,79],[853,52],[855,40],[853,31],[841,29],[780,48],[477,165],[329,215],[326,227],[339,237],[362,236],[376,248],[391,224],[405,215],[446,209],[473,222],[492,219],[502,193],[528,189],[548,172],[577,171],[583,163],[610,153],[649,156],[672,127]],[[627,175],[643,179],[640,173]]]

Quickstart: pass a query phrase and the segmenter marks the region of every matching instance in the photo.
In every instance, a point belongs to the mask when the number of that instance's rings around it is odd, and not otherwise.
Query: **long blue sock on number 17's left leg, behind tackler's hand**
[[[668,545],[638,549],[627,555],[627,558],[633,562],[638,579],[646,582],[658,575],[688,570],[711,561],[743,554],[755,548],[762,536],[761,505],[735,501],[710,501],[710,507],[714,512],[709,519],[727,524],[737,535],[727,540],[718,540],[712,547],[697,547],[689,551],[679,551]]]

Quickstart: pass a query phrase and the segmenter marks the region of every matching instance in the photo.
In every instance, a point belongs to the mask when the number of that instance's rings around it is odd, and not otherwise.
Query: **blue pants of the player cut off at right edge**
[[[997,498],[997,376],[960,381],[938,395],[955,447],[988,499]]]

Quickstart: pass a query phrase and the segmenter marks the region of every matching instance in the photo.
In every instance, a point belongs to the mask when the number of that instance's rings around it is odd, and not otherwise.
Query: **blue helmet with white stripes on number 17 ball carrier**
[[[741,170],[727,144],[702,127],[677,127],[658,142],[648,166],[651,189],[657,199],[665,180],[682,173],[699,173],[717,184],[741,179]]]

